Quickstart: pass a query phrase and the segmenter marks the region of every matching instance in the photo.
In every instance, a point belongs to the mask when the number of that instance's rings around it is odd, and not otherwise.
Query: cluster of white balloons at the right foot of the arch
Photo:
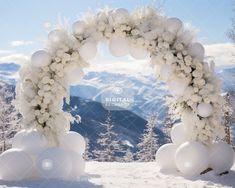
[[[184,176],[199,176],[213,170],[222,175],[229,172],[234,164],[234,150],[223,141],[203,144],[190,141],[182,123],[173,126],[171,140],[173,143],[162,145],[156,153],[156,161],[164,171],[179,171]]]

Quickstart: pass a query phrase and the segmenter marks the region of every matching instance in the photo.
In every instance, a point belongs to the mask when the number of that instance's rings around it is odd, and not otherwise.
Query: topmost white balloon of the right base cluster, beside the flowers
[[[186,132],[181,123],[174,125],[171,129],[171,140],[176,145],[180,145],[187,141]]]

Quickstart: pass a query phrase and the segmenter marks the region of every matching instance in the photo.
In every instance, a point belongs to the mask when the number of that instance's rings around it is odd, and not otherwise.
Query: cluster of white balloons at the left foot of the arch
[[[22,130],[12,140],[12,149],[0,155],[0,179],[78,179],[84,175],[84,138],[67,132],[59,146],[50,146],[36,130]]]

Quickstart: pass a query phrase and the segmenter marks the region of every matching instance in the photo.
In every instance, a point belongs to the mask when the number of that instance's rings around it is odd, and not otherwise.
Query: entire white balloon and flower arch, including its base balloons
[[[172,129],[173,143],[157,152],[160,167],[177,168],[186,175],[198,175],[208,167],[218,173],[229,170],[230,164],[222,165],[226,166],[222,169],[218,167],[224,161],[214,156],[218,151],[230,152],[229,156],[233,156],[229,146],[214,143],[224,136],[220,125],[223,103],[220,81],[214,74],[214,64],[205,61],[204,47],[193,40],[192,33],[179,19],[162,16],[152,8],[140,8],[131,14],[122,8],[100,11],[75,22],[72,31],[51,31],[47,47],[36,51],[31,63],[20,71],[17,107],[23,115],[25,129],[33,131],[17,134],[13,147],[24,148],[28,144],[27,148],[31,148],[28,153],[36,161],[37,176],[71,178],[82,173],[81,154],[85,143],[82,136],[69,132],[73,118],[63,111],[63,100],[69,101],[69,87],[83,78],[83,68],[89,66],[96,55],[97,43],[105,41],[114,56],[130,54],[135,59],[150,56],[156,76],[166,82],[173,96],[171,105],[180,115],[181,124]],[[79,143],[78,151],[74,152],[73,142]],[[43,149],[48,143],[51,147]],[[68,156],[61,148],[73,153]],[[25,156],[21,155],[23,161]],[[80,156],[79,161],[72,161],[71,165],[71,156],[74,160]],[[47,170],[52,162],[55,166],[58,158],[63,159],[67,167]]]

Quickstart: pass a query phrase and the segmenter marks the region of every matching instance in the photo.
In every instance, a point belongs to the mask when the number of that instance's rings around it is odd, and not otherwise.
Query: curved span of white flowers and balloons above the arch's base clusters
[[[221,124],[220,81],[214,64],[204,60],[204,48],[177,18],[152,8],[102,10],[75,22],[72,31],[49,33],[47,47],[35,52],[22,67],[17,84],[17,107],[26,128],[37,129],[58,144],[74,119],[63,111],[69,87],[83,78],[83,68],[107,41],[114,56],[151,57],[156,76],[167,83],[175,113],[181,116],[190,141],[210,144],[224,137]]]

